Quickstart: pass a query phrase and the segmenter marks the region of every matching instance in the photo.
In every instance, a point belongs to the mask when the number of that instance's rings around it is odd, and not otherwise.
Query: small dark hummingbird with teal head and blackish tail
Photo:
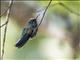
[[[16,43],[15,46],[18,48],[24,46],[30,38],[33,38],[37,34],[37,31],[38,31],[38,24],[37,24],[37,17],[36,17],[29,20],[29,22],[23,29],[22,37]]]

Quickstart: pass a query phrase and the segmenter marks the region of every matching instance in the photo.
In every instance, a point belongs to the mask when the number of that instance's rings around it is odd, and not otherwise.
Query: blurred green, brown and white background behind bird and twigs
[[[52,1],[37,35],[22,48],[15,47],[25,24],[30,18],[40,14],[37,19],[39,23],[48,2],[16,0],[13,2],[3,60],[80,60],[80,1]],[[65,6],[57,4],[59,2]],[[9,1],[1,2],[1,14],[8,5]],[[6,21],[6,13],[0,18],[2,25]],[[0,29],[2,50],[4,27]]]

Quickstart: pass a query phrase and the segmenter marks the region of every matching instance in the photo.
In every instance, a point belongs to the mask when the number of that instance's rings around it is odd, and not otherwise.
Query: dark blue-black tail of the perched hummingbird
[[[16,47],[21,48],[30,38],[29,34],[25,34],[17,43]]]

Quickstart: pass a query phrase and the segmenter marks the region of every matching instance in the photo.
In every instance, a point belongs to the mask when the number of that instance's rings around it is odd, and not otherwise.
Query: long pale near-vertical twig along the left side
[[[13,4],[13,0],[10,1],[10,4],[9,4],[10,8],[7,10],[7,16],[6,16],[7,24],[5,25],[4,37],[3,37],[2,60],[3,60],[3,56],[4,56],[4,47],[5,47],[7,25],[8,25],[8,22],[9,22],[9,16],[10,16],[10,11],[11,11],[12,4]]]

